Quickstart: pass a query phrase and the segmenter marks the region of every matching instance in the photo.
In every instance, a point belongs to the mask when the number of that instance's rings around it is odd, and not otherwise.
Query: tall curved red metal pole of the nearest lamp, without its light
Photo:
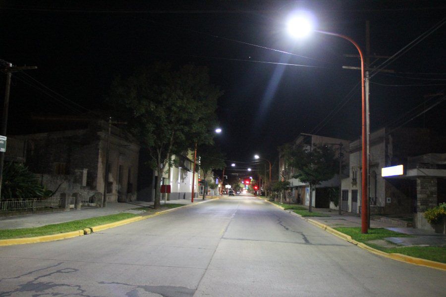
[[[365,104],[365,80],[364,80],[364,55],[362,53],[359,45],[350,37],[326,32],[319,31],[316,32],[322,34],[328,34],[337,36],[351,42],[359,52],[359,57],[361,58],[361,96],[362,96],[362,174],[361,174],[361,233],[366,234],[369,229],[368,224],[368,193],[367,193],[367,135],[366,135],[366,104]]]

